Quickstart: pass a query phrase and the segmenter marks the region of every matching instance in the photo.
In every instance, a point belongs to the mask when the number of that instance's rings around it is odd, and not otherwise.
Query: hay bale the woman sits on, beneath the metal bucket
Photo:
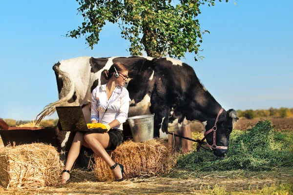
[[[167,142],[159,138],[146,142],[125,141],[109,155],[114,162],[124,165],[126,179],[168,173],[176,164],[175,158],[168,150]],[[98,180],[113,180],[113,174],[104,160],[99,156],[94,157],[94,172]]]

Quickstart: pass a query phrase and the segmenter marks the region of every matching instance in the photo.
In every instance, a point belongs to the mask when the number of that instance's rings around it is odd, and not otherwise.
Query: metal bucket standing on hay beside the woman
[[[134,141],[140,142],[154,138],[154,116],[155,114],[128,117]]]

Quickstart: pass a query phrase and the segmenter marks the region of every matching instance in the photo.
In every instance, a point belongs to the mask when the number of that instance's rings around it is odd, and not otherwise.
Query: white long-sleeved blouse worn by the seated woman
[[[117,86],[109,100],[107,99],[106,84],[97,86],[91,94],[91,117],[103,124],[109,124],[117,119],[120,125],[113,129],[123,130],[122,123],[127,119],[129,110],[129,93],[125,87]],[[107,109],[107,112],[105,110]]]

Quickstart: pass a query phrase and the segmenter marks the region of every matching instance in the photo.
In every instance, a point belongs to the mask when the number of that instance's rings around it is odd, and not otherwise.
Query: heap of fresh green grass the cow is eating
[[[274,131],[270,120],[259,121],[247,131],[232,131],[225,158],[201,149],[180,156],[176,164],[197,171],[261,171],[286,166],[293,166],[293,132]]]

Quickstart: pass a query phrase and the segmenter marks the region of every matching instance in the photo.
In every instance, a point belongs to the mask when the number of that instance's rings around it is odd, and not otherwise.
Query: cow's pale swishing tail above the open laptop
[[[73,106],[72,103],[69,103],[68,100],[72,98],[74,94],[74,82],[73,80],[69,77],[69,75],[62,70],[60,70],[58,65],[53,66],[53,70],[55,71],[55,74],[58,75],[59,77],[62,77],[63,81],[63,90],[68,91],[67,95],[65,97],[59,97],[60,99],[49,103],[44,107],[42,112],[36,117],[36,124],[38,124],[44,117],[46,116],[51,116],[55,111],[57,106],[68,106],[69,104]],[[58,79],[58,77],[57,77]],[[39,117],[40,116],[40,117]],[[38,118],[39,117],[39,118]]]

